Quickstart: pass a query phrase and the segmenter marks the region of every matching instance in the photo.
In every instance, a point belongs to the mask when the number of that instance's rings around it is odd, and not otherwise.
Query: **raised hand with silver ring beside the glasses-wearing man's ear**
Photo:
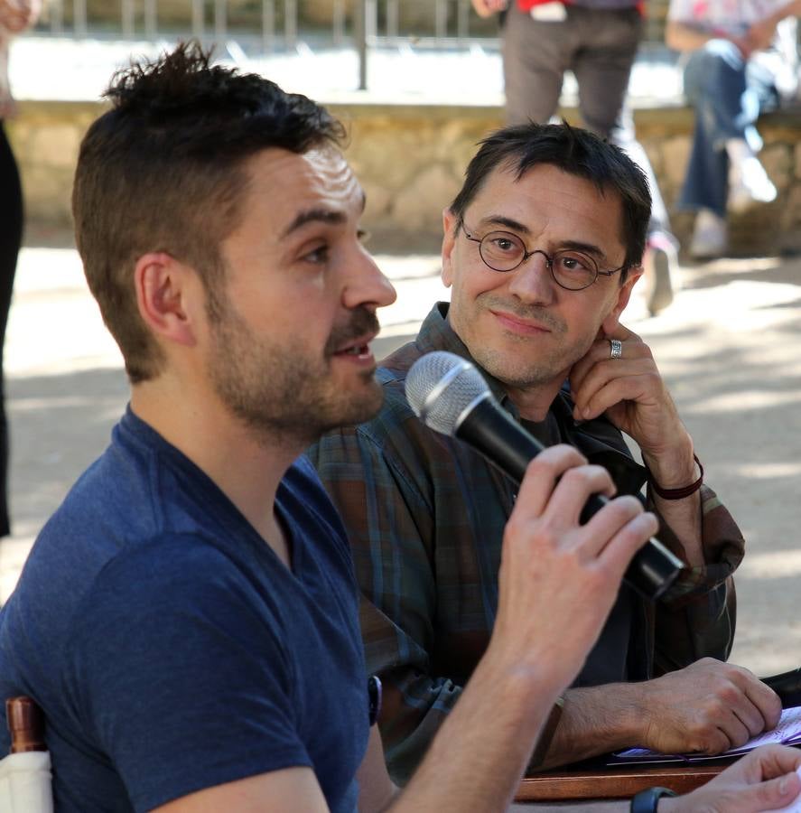
[[[610,340],[620,342],[611,358]],[[682,423],[647,344],[617,322],[573,365],[570,386],[576,420],[605,415],[639,446],[663,488],[695,478],[693,441]]]

